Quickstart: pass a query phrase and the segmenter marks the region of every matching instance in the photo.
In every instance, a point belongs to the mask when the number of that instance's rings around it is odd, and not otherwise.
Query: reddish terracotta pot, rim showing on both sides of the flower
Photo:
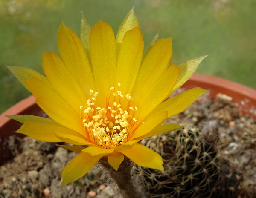
[[[256,90],[219,77],[202,74],[192,75],[192,77],[182,86],[184,89],[191,89],[194,87],[201,87],[202,89],[209,90],[209,93],[213,98],[215,98],[218,93],[231,96],[233,101],[237,104],[237,109],[242,115],[247,114],[256,119]],[[5,146],[8,137],[14,134],[19,137],[24,137],[24,135],[14,132],[20,128],[22,123],[3,117],[3,115],[28,114],[42,116],[43,113],[44,112],[38,105],[35,104],[34,96],[29,96],[1,114],[0,165],[13,157],[11,152]]]

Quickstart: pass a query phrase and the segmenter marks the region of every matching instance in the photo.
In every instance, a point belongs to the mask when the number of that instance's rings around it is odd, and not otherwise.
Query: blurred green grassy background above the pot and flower
[[[159,38],[173,37],[172,63],[211,54],[198,73],[256,89],[256,0],[0,0],[0,113],[30,95],[5,65],[43,73],[61,20],[79,35],[83,11],[116,33],[132,6],[145,46],[160,30]]]

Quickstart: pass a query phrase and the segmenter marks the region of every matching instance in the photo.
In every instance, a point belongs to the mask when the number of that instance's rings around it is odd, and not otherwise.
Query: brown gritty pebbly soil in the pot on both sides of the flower
[[[232,98],[205,95],[167,122],[208,131],[205,141],[215,142],[223,161],[242,173],[243,196],[256,197],[256,121],[239,115]],[[0,167],[0,198],[121,197],[99,164],[61,189],[61,171],[76,153],[54,143],[11,136],[8,147],[16,157]]]

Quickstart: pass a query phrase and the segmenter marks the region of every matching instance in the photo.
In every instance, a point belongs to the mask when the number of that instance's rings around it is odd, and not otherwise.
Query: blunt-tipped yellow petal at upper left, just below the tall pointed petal
[[[43,69],[54,90],[64,98],[70,106],[79,109],[81,105],[86,103],[87,98],[84,92],[58,55],[54,52],[44,52]]]

